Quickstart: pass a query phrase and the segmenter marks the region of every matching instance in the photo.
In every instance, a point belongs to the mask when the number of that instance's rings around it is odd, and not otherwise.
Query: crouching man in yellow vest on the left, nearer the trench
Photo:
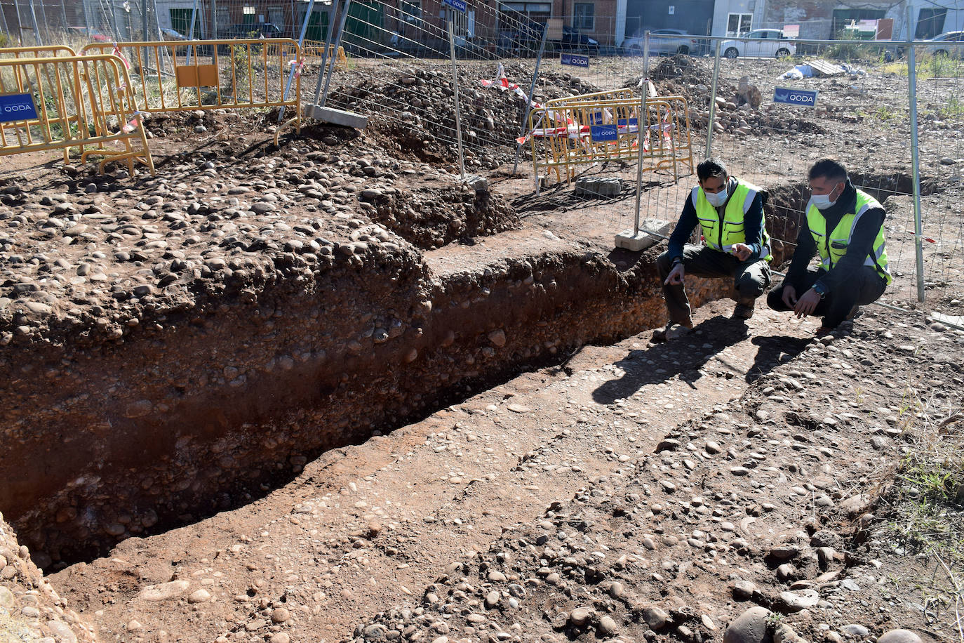
[[[683,205],[680,221],[669,238],[666,252],[656,259],[669,325],[693,328],[689,300],[683,289],[685,275],[732,279],[736,285],[733,316],[749,319],[757,298],[770,283],[769,236],[763,225],[766,193],[755,185],[727,173],[717,159],[696,166],[699,186]],[[686,244],[697,226],[706,245]],[[654,339],[666,338],[656,331]]]

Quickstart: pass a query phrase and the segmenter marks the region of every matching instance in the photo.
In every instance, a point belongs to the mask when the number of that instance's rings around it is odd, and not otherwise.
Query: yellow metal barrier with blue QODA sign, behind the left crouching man
[[[551,101],[550,101],[551,102]],[[693,172],[692,140],[686,101],[681,96],[646,101],[643,124],[643,171],[672,169],[684,163]],[[535,175],[544,169],[556,180],[571,181],[576,167],[639,158],[639,100],[554,102],[533,109],[528,137]]]

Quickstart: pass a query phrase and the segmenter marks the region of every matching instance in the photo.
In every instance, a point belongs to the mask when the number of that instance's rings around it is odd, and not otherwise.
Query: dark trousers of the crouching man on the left
[[[666,281],[673,270],[668,253],[659,255],[656,268],[659,270],[659,281]],[[684,246],[683,270],[686,271],[686,276],[732,279],[736,286],[736,301],[750,307],[770,284],[770,266],[763,259],[740,261],[734,255],[721,253],[707,246]],[[686,298],[682,284],[663,285],[663,297],[669,310],[670,321],[685,326],[692,324],[689,299]]]

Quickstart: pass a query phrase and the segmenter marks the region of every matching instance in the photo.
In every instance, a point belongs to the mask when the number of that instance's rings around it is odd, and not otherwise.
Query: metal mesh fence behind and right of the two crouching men
[[[651,35],[650,41],[659,37]],[[732,40],[721,44],[719,55],[705,59],[654,57],[649,76],[658,80],[667,69],[693,70],[688,82],[683,73],[682,85],[706,96],[702,102],[694,96],[691,106],[698,115],[693,121],[708,122],[711,155],[722,159],[731,174],[768,189],[769,212],[776,215],[771,222],[779,222],[771,223],[769,232],[783,255],[792,253],[805,216],[809,167],[826,156],[843,161],[854,185],[885,206],[895,282],[883,301],[901,306],[914,306],[919,295],[910,88],[912,75],[917,79],[922,281],[925,291],[933,291],[926,307],[959,315],[964,49],[955,47],[960,43],[949,43],[947,51],[917,45],[913,68],[907,47],[899,43],[796,40],[793,48],[802,54],[781,58],[775,47],[788,46],[782,42],[759,43],[752,51],[741,48],[737,56],[732,50],[726,55]],[[711,117],[711,93],[705,90],[711,81],[700,82],[696,72],[708,67],[710,77],[717,74]],[[794,98],[799,99],[794,104],[780,102]],[[689,183],[662,201],[644,201],[649,216],[675,220],[695,181]]]

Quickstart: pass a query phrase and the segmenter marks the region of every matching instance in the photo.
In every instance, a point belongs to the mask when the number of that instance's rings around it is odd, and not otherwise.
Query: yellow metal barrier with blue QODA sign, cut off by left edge
[[[104,156],[99,169],[141,161],[154,173],[130,80],[115,56],[0,59],[0,156],[70,147]],[[120,143],[121,149],[107,147]],[[134,145],[140,143],[140,146]]]

